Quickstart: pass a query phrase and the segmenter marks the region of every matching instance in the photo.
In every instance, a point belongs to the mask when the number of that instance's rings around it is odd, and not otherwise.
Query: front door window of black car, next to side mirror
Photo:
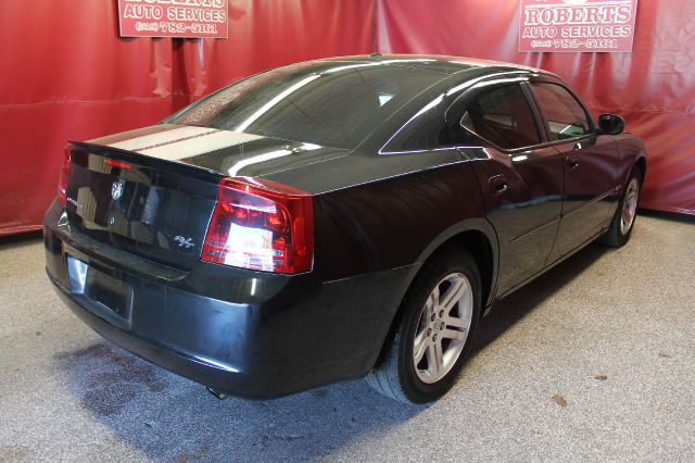
[[[584,108],[565,87],[557,84],[532,84],[541,111],[547,121],[551,140],[567,140],[592,133]]]

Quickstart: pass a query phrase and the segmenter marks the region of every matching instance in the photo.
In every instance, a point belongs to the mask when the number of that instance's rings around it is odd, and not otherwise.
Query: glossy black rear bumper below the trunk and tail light
[[[275,398],[364,376],[417,271],[339,281],[205,262],[178,272],[103,248],[61,225],[61,213],[54,203],[45,218],[47,272],[71,310],[124,349],[244,398]],[[81,286],[68,258],[92,274]],[[127,301],[124,316],[108,306],[114,300]]]

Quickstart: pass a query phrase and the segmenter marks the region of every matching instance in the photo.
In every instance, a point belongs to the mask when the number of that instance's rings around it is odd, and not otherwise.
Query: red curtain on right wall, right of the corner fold
[[[632,53],[519,53],[517,0],[379,0],[382,53],[508,61],[564,77],[649,153],[642,205],[695,214],[695,1],[641,0]]]

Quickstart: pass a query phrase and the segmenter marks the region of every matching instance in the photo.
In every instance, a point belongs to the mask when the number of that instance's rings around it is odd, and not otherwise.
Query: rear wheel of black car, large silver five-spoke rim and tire
[[[367,383],[405,403],[439,399],[465,363],[480,313],[476,261],[457,248],[440,252],[426,263],[408,291],[393,339]]]

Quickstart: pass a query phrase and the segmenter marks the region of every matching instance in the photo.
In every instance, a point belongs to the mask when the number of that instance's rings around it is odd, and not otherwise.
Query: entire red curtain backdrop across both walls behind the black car
[[[1,0],[0,235],[40,227],[67,139],[153,124],[269,67],[441,53],[543,67],[650,154],[643,205],[695,214],[695,2],[642,0],[632,53],[518,53],[516,0],[231,0],[229,39],[123,39],[115,0]]]

